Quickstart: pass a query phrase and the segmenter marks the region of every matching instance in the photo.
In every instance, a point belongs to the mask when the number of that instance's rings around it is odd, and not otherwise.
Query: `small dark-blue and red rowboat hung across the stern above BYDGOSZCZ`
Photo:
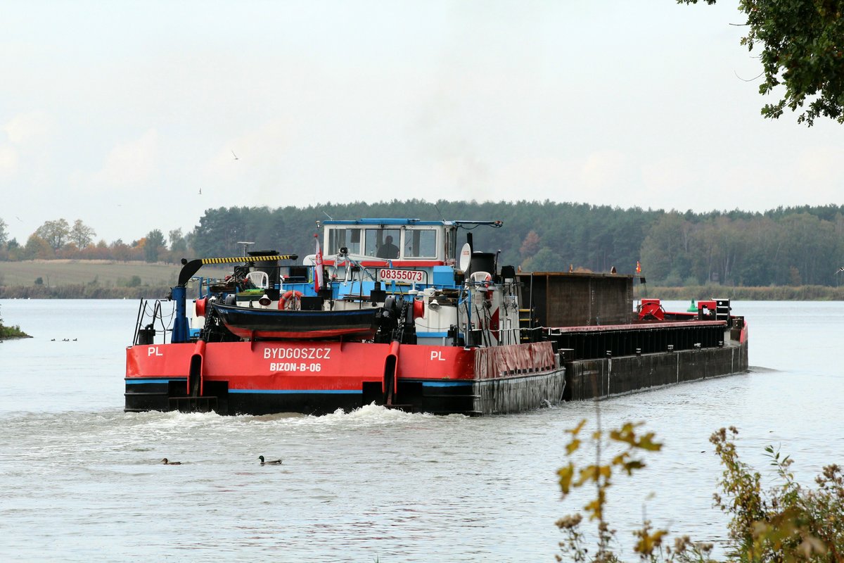
[[[247,340],[357,338],[375,336],[380,307],[338,311],[290,311],[211,302],[220,320],[235,336]]]

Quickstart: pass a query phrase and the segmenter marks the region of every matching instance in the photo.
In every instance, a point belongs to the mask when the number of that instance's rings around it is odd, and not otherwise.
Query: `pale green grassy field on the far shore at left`
[[[0,285],[33,285],[41,278],[45,286],[89,284],[96,281],[105,287],[126,285],[133,276],[142,285],[175,285],[181,266],[178,264],[116,262],[114,260],[29,260],[0,262]],[[221,278],[230,268],[203,267],[199,273]]]

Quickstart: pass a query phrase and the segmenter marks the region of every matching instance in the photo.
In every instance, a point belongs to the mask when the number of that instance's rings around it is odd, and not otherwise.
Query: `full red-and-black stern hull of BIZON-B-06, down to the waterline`
[[[149,344],[127,349],[126,406],[219,414],[327,414],[376,403],[495,414],[562,400],[551,343],[492,348],[319,340]]]

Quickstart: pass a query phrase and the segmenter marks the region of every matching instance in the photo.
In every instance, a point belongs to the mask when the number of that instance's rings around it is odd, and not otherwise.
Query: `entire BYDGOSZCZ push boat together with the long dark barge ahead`
[[[139,305],[124,409],[507,414],[746,371],[728,300],[669,313],[633,306],[641,276],[520,273],[474,249],[473,230],[501,226],[332,219],[301,263],[182,260],[168,298]],[[208,264],[232,273],[197,275]]]

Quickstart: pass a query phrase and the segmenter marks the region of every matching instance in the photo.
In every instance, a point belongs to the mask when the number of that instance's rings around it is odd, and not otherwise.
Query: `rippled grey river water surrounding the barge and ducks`
[[[555,472],[567,460],[564,430],[582,418],[594,427],[593,403],[474,419],[376,407],[124,414],[123,349],[137,309],[0,302],[7,324],[35,337],[0,344],[0,560],[552,561],[554,522],[587,501],[561,501]],[[769,444],[794,457],[804,485],[844,461],[835,354],[844,304],[737,302],[733,312],[749,322],[751,373],[599,404],[605,428],[641,420],[665,442],[609,490],[609,521],[630,560],[643,517],[723,539],[726,518],[711,506],[721,471],[713,430],[738,427],[739,452],[766,485]],[[259,455],[284,464],[261,467]]]

